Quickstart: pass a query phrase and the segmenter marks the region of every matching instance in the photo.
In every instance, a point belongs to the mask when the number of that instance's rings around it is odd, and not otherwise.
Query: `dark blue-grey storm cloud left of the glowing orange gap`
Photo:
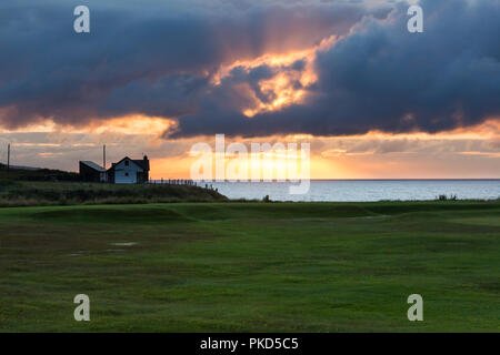
[[[88,34],[72,30],[82,3],[91,10]],[[39,118],[84,124],[199,112],[221,64],[309,48],[366,14],[348,3],[242,3],[2,1],[0,120],[14,128]]]

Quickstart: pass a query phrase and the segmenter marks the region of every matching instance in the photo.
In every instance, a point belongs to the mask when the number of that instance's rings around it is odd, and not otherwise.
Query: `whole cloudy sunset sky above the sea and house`
[[[410,33],[407,11],[423,10]],[[73,9],[90,9],[76,33]],[[500,0],[3,0],[0,161],[310,143],[312,179],[500,179]]]

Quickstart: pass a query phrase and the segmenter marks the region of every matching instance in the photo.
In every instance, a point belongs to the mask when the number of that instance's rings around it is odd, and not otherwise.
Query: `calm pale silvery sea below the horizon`
[[[500,197],[500,180],[316,180],[304,195],[289,193],[291,183],[212,182],[213,189],[230,199],[273,201],[380,201],[434,200],[441,194],[458,199]],[[199,183],[204,185],[204,183]]]

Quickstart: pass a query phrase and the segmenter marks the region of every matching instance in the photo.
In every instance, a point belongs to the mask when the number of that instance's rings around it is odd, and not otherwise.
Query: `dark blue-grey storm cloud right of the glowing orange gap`
[[[438,132],[500,116],[498,1],[421,1],[424,32],[407,31],[408,4],[364,18],[319,51],[303,104],[248,119],[223,104],[182,118],[172,136]]]

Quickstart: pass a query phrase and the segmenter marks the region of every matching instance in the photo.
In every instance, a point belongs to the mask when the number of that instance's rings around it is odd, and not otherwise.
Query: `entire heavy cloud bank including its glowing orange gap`
[[[3,125],[133,113],[177,120],[174,138],[339,135],[500,116],[497,0],[422,0],[418,34],[407,2],[83,2],[90,34],[80,3],[0,4]]]

